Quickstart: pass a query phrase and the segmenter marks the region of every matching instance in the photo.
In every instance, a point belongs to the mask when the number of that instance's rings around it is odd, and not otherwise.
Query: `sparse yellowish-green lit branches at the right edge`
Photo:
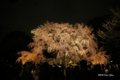
[[[116,37],[120,37],[120,32],[117,30],[120,26],[120,9],[117,9],[117,11],[110,9],[110,11],[114,14],[112,20],[108,20],[102,24],[102,27],[107,31],[98,30],[97,32],[97,35],[101,37],[102,40],[105,40],[101,42],[103,44],[111,43]]]

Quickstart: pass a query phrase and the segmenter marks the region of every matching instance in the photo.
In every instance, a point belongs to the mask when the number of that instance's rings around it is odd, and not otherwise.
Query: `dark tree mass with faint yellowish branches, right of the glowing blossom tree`
[[[107,54],[111,54],[112,59],[119,61],[120,58],[120,9],[110,9],[113,15],[96,17],[89,21],[88,25],[94,28],[94,33],[98,38],[99,47],[104,46]]]

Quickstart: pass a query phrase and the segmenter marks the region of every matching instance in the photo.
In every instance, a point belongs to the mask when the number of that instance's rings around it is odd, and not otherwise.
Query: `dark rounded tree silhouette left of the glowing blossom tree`
[[[32,39],[21,31],[10,32],[5,35],[0,43],[1,57],[4,60],[15,63],[19,57],[18,51],[29,50],[27,45],[32,42]]]

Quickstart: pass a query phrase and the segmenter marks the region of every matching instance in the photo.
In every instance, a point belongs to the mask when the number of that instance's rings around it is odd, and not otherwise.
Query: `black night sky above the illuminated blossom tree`
[[[50,22],[85,23],[110,15],[120,0],[0,0],[0,40],[11,31],[30,31]]]

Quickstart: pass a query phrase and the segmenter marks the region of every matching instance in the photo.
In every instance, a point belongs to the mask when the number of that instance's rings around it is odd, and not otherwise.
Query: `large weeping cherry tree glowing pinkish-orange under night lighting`
[[[31,52],[18,52],[18,54],[21,53],[21,57],[17,61],[22,60],[23,64],[33,61],[39,64],[39,62],[44,61],[57,63],[63,58],[78,62],[84,58],[93,64],[105,64],[108,62],[109,56],[105,55],[104,51],[98,50],[97,42],[95,42],[97,39],[92,31],[91,27],[84,24],[76,23],[73,27],[69,23],[47,22],[31,30],[31,33],[34,34],[34,42],[31,42],[28,46],[32,50]],[[43,50],[57,54],[56,59],[47,59],[43,56]],[[88,56],[88,52],[90,56]]]

